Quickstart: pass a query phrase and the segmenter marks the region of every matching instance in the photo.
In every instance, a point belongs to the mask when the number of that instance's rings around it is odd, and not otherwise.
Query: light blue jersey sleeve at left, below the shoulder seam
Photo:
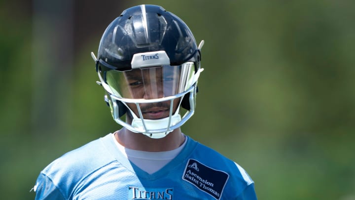
[[[36,192],[35,200],[65,200],[52,180],[42,173],[37,178],[34,190]]]

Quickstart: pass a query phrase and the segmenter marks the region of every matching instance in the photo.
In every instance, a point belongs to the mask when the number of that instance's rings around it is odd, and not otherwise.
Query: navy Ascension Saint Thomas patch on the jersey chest
[[[222,196],[229,175],[220,170],[208,167],[197,160],[188,160],[182,179],[198,189],[211,195],[216,200]]]

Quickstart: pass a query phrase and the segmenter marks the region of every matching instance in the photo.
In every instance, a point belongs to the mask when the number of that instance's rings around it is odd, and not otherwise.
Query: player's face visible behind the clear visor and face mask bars
[[[123,96],[133,99],[159,99],[174,95],[174,88],[178,83],[177,70],[170,68],[137,69],[124,72],[127,88],[122,91]],[[130,109],[139,116],[136,104],[128,103]],[[179,99],[173,101],[173,113],[178,109]],[[162,119],[169,117],[171,101],[149,104],[139,104],[144,119]]]

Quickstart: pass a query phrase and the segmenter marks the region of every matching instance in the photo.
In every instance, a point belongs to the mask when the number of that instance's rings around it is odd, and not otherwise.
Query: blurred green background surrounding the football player
[[[47,164],[120,128],[90,52],[142,3],[205,40],[185,134],[243,166],[260,200],[355,200],[354,0],[1,0],[1,199],[34,199]]]

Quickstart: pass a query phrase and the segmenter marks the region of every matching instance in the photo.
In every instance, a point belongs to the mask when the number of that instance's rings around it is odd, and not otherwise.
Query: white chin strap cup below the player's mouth
[[[181,116],[179,114],[171,117],[171,121],[169,124],[170,117],[159,119],[159,120],[141,120],[139,118],[134,118],[132,120],[132,126],[136,128],[137,133],[142,133],[150,138],[159,139],[168,135],[173,130],[170,130],[169,127],[177,124],[181,121]],[[164,132],[157,133],[149,133],[150,130],[159,130],[165,129]],[[136,131],[134,131],[136,132]]]

